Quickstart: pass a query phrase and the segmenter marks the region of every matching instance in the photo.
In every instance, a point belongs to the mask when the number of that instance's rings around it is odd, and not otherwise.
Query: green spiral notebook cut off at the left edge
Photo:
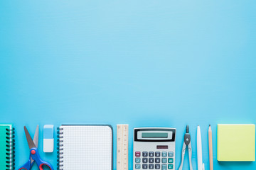
[[[0,169],[14,169],[14,128],[0,124]]]

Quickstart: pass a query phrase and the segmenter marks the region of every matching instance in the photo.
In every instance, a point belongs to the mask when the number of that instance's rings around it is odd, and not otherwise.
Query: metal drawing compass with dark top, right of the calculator
[[[183,147],[181,152],[181,165],[178,168],[178,170],[182,170],[183,168],[183,161],[184,161],[187,146],[188,146],[188,157],[189,157],[189,169],[193,170],[192,161],[191,161],[191,157],[192,157],[191,135],[189,134],[188,125],[186,126],[186,133],[184,135],[184,142],[183,142]]]

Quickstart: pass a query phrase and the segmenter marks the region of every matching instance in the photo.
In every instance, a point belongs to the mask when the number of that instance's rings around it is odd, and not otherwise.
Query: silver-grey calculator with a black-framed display
[[[133,170],[175,169],[176,128],[134,128]]]

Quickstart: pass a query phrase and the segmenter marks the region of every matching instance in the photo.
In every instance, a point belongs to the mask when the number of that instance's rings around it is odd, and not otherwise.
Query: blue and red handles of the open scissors
[[[43,166],[48,166],[48,168],[50,170],[54,170],[53,166],[51,166],[48,162],[44,162],[41,160],[40,155],[38,153],[38,149],[36,147],[31,148],[30,157],[34,160],[34,162],[36,162],[36,164],[40,170],[43,170]],[[30,157],[28,159],[28,162],[26,162],[26,164],[21,166],[21,168],[18,170],[30,170],[31,169],[31,166],[33,165],[34,162],[31,164]]]

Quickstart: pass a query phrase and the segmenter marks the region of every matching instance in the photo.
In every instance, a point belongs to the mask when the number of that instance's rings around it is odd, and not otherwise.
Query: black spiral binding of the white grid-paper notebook
[[[57,128],[57,169],[63,170],[63,128]]]

